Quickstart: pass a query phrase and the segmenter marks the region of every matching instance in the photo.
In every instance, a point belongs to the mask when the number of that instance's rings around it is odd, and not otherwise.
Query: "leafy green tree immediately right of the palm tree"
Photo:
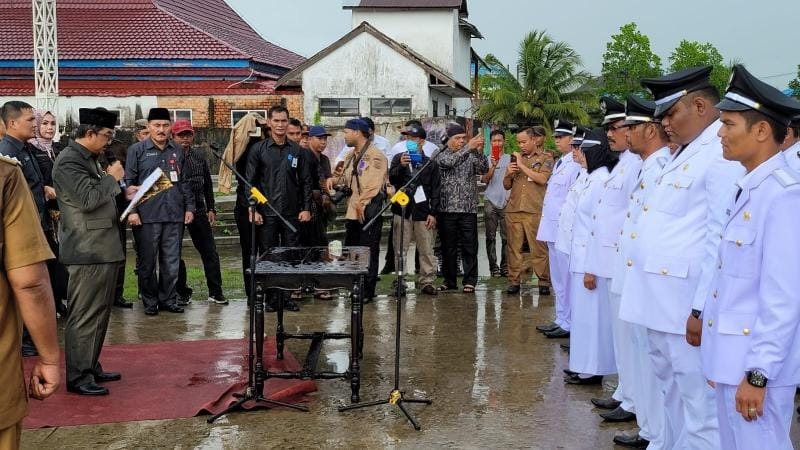
[[[611,36],[603,53],[602,91],[619,99],[645,94],[640,81],[661,75],[661,58],[650,50],[650,38],[631,22]]]

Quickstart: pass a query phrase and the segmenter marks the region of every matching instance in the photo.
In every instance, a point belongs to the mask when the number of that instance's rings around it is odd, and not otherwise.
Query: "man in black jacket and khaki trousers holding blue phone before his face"
[[[436,295],[436,288],[433,282],[436,279],[436,260],[433,256],[433,229],[436,228],[436,212],[439,209],[439,190],[440,175],[439,167],[435,162],[423,153],[425,129],[418,126],[410,126],[403,132],[406,136],[406,152],[398,153],[392,159],[391,169],[389,170],[389,181],[399,190],[416,175],[417,179],[412,183],[406,193],[410,197],[409,204],[405,207],[405,214],[400,205],[392,205],[394,214],[394,249],[395,267],[405,273],[405,267],[401,261],[408,254],[408,246],[411,238],[417,244],[419,251],[419,284],[421,291],[428,295]],[[402,233],[401,233],[402,227]],[[402,242],[400,235],[403,235]],[[401,260],[402,257],[402,260]],[[402,289],[402,287],[401,287]]]

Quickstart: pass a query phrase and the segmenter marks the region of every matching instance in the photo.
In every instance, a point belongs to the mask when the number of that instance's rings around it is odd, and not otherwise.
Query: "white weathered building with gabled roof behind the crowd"
[[[307,120],[472,116],[470,42],[481,36],[466,22],[466,0],[344,3],[353,30],[276,83],[302,87]]]

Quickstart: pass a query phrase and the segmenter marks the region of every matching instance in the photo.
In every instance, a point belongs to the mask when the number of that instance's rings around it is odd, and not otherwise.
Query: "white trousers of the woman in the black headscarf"
[[[597,288],[590,291],[583,287],[583,273],[573,272],[570,277],[575,326],[569,337],[569,370],[585,375],[616,373],[607,279],[598,278]]]

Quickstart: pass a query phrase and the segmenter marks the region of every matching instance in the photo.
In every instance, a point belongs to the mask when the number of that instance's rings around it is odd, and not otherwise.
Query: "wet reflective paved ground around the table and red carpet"
[[[614,434],[634,425],[602,423],[589,399],[610,395],[616,380],[565,386],[568,355],[559,346],[565,341],[548,340],[535,330],[552,317],[552,297],[539,297],[530,287],[508,296],[504,287],[502,281],[484,280],[475,295],[431,298],[409,292],[400,386],[433,400],[430,406],[407,405],[422,431],[414,431],[395,406],[338,412],[349,402],[349,383],[321,380],[308,413],[234,413],[213,425],[195,417],[28,430],[23,448],[613,448]],[[365,306],[362,400],[386,398],[392,389],[395,305],[384,295]],[[344,297],[309,298],[301,306],[300,312],[287,313],[288,330],[347,329]],[[274,324],[274,314],[268,315],[268,329]],[[246,325],[242,300],[228,306],[195,301],[183,315],[155,317],[145,316],[137,304],[133,310],[114,309],[107,343],[241,338]],[[305,355],[302,343],[290,342],[289,349],[299,359]],[[320,365],[344,370],[347,350],[346,342],[328,341]],[[793,432],[800,443],[796,426]]]

